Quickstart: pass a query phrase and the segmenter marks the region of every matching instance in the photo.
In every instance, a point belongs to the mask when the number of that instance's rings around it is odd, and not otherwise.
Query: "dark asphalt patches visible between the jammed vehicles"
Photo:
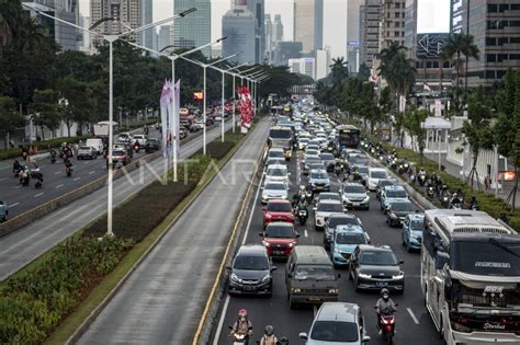
[[[301,157],[301,154],[298,154]],[[294,157],[290,161],[291,171],[291,193],[293,195],[299,184],[306,184],[306,179],[299,181],[299,158]],[[302,175],[303,176],[303,175]],[[338,191],[339,183],[337,177],[331,177],[332,192]],[[257,193],[256,207],[250,215],[250,227],[247,228],[247,234],[244,243],[261,244],[259,232],[262,231],[262,210],[259,194]],[[370,210],[353,211],[361,221],[365,231],[369,233],[373,244],[391,245],[396,255],[404,260],[405,271],[405,292],[402,296],[392,295],[395,302],[399,303],[396,314],[396,344],[421,344],[433,345],[442,344],[433,323],[423,306],[422,291],[420,289],[420,263],[419,253],[408,253],[402,244],[400,228],[389,228],[385,223],[385,217],[380,210],[380,204],[375,193],[371,193]],[[305,226],[296,226],[301,234],[299,244],[323,245],[323,232],[314,229],[314,211],[310,209],[310,216]],[[301,307],[296,310],[289,308],[289,301],[285,292],[285,263],[275,262],[278,267],[274,271],[273,296],[263,297],[227,297],[224,302],[223,312],[216,320],[215,338],[213,344],[229,344],[230,338],[228,326],[237,319],[238,310],[245,308],[248,311],[249,319],[253,324],[255,335],[250,344],[255,344],[263,334],[263,327],[268,324],[274,326],[274,333],[280,336],[289,336],[290,344],[305,344],[304,340],[298,338],[301,332],[308,333],[316,307]],[[370,344],[385,344],[376,330],[376,315],[374,304],[378,299],[377,292],[357,292],[352,281],[348,278],[348,269],[337,269],[341,274],[340,278],[340,301],[358,303],[366,322],[368,335],[372,337]]]

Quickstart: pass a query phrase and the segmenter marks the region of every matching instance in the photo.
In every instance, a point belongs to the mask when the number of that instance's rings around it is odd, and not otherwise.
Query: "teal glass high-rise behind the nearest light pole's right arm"
[[[212,41],[212,3],[211,0],[174,0],[173,12],[181,13],[196,8],[183,19],[173,22],[173,43],[182,48],[203,46]],[[211,57],[211,48],[202,53]]]

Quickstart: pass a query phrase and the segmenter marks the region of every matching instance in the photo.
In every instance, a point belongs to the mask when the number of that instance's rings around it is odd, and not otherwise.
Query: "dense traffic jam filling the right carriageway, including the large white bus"
[[[472,207],[425,210],[392,153],[369,156],[312,97],[271,115],[214,344],[520,343],[511,228]]]

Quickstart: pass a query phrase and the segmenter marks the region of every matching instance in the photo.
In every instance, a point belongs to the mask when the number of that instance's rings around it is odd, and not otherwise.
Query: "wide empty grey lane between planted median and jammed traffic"
[[[79,344],[191,344],[269,125],[258,124]]]

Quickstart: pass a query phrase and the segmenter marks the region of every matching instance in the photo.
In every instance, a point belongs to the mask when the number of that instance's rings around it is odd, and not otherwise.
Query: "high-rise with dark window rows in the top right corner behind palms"
[[[490,87],[520,66],[520,1],[451,0],[451,32],[474,37],[481,58],[468,59],[467,87]],[[463,67],[461,85],[466,82]]]

